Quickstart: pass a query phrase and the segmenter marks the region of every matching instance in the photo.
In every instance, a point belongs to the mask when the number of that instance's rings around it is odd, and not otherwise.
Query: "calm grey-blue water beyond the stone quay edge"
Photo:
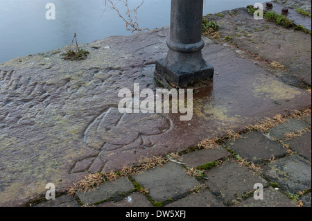
[[[55,20],[45,16],[50,2],[55,4]],[[141,0],[129,2],[135,8]],[[207,0],[204,15],[253,3],[257,0]],[[170,6],[170,0],[146,0],[138,10],[139,26],[168,26]],[[120,10],[125,13],[122,7]],[[105,0],[0,0],[0,62],[66,46],[73,33],[77,33],[78,44],[132,34],[114,10],[105,10]]]

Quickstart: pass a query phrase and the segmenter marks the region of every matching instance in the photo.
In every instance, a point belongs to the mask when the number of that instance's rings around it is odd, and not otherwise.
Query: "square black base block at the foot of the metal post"
[[[166,88],[200,88],[210,85],[214,78],[214,67],[205,62],[198,71],[172,70],[164,66],[164,58],[156,61],[155,79]]]

